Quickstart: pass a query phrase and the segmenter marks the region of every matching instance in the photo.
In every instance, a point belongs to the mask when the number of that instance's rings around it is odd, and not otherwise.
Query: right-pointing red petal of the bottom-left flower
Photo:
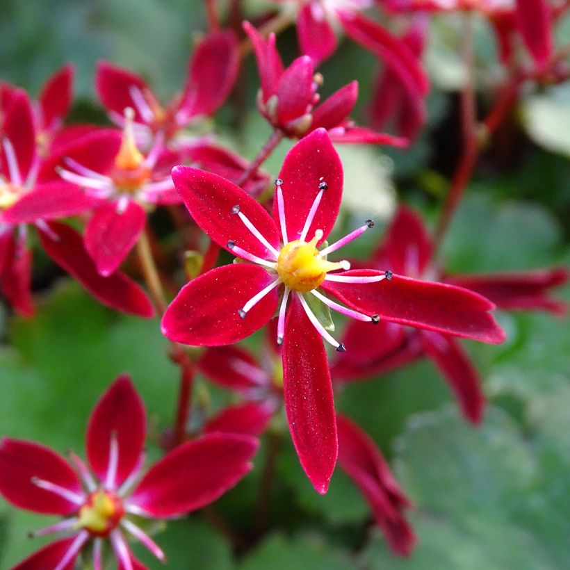
[[[149,469],[129,506],[159,518],[204,507],[252,469],[258,444],[252,437],[220,433],[187,441]]]

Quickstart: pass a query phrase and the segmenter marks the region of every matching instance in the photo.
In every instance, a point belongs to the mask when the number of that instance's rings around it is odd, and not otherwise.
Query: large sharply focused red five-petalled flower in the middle
[[[165,312],[163,333],[190,345],[234,343],[266,324],[279,305],[277,336],[283,343],[291,435],[320,493],[327,490],[337,453],[332,386],[321,337],[339,352],[345,346],[320,323],[312,304],[322,302],[366,323],[383,318],[503,341],[503,331],[487,312],[494,305],[480,295],[389,271],[350,271],[347,261],[328,261],[329,253],[373,222],[367,220],[345,238],[318,249],[336,220],[343,185],[339,156],[324,129],[288,152],[276,181],[273,218],[241,188],[215,174],[179,166],[172,177],[197,225],[240,261],[188,283]]]

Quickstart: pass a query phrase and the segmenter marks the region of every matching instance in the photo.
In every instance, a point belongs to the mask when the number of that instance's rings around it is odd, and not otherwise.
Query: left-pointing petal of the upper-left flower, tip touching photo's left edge
[[[8,224],[56,220],[91,209],[97,201],[79,186],[66,181],[38,184],[13,206],[3,211],[0,221]]]

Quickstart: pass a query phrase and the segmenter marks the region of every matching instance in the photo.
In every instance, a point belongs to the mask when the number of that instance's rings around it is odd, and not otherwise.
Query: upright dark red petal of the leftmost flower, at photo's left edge
[[[1,140],[6,137],[14,149],[20,177],[25,181],[35,157],[35,127],[30,98],[23,89],[15,90],[10,106],[4,111],[1,134],[0,165],[3,174],[11,180],[6,153],[1,144]]]

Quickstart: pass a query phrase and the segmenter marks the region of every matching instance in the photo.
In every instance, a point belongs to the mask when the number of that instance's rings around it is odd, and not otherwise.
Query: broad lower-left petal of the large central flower
[[[163,316],[163,334],[176,343],[217,346],[241,341],[263,327],[277,308],[273,289],[247,312],[238,309],[275,278],[260,266],[215,268],[186,284]]]

